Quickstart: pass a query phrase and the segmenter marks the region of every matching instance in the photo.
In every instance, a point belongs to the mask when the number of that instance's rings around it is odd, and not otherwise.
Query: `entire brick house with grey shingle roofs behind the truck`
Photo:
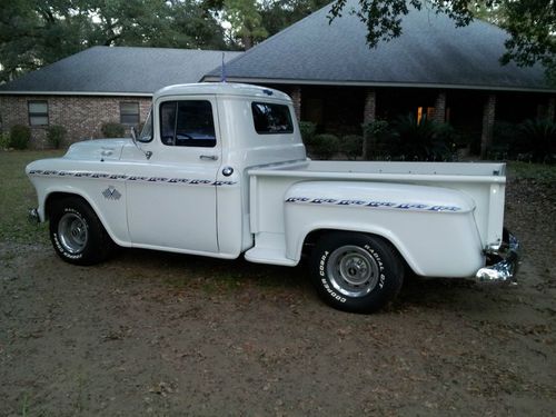
[[[455,28],[425,7],[403,19],[401,37],[369,49],[348,12],[356,4],[331,24],[325,7],[245,53],[226,52],[227,80],[286,91],[319,131],[360,133],[361,123],[426,115],[465,131],[483,155],[495,121],[554,120],[556,88],[543,68],[499,63],[504,30],[480,20]],[[47,125],[67,127],[71,141],[99,137],[103,122],[142,122],[163,86],[219,81],[221,53],[91,48],[0,86],[0,122],[31,126],[34,147],[44,147]]]

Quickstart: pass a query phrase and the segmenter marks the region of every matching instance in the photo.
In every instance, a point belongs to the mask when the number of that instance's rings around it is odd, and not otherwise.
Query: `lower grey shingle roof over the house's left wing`
[[[225,61],[242,52],[225,52]],[[221,51],[93,47],[0,86],[0,93],[151,95],[169,85],[197,82],[220,67]]]

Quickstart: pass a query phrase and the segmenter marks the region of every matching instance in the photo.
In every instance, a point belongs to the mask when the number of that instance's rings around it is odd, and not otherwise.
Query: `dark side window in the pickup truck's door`
[[[160,105],[162,143],[178,147],[216,146],[212,106],[207,100],[165,101]]]

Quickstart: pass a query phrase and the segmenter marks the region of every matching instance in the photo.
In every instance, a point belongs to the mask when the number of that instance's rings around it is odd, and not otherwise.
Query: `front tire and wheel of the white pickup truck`
[[[113,247],[95,211],[79,197],[52,203],[49,229],[56,252],[69,264],[101,262]]]

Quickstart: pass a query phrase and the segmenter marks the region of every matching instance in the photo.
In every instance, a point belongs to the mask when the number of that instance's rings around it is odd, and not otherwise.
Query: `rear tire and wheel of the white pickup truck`
[[[393,300],[404,282],[404,265],[386,240],[358,232],[331,232],[317,244],[312,284],[328,305],[373,312]]]

